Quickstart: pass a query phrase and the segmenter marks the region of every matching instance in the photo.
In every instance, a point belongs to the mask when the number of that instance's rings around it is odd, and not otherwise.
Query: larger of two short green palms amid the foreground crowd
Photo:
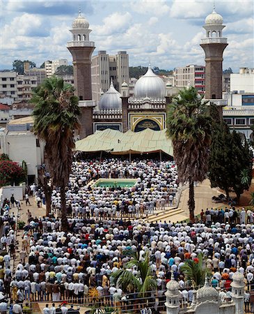
[[[132,250],[124,251],[123,255],[131,257],[131,260],[124,265],[123,269],[111,275],[114,283],[125,292],[134,290],[140,297],[145,297],[157,287],[157,281],[150,266],[149,252],[145,254],[144,260],[139,260],[138,253]],[[136,267],[138,276],[132,274],[132,267]]]

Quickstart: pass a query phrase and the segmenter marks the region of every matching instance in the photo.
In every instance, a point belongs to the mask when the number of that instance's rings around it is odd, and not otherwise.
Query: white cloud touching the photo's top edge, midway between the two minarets
[[[154,15],[166,15],[170,7],[166,4],[167,1],[164,0],[138,0],[127,2],[126,6],[131,8],[134,12],[141,14],[154,14]]]

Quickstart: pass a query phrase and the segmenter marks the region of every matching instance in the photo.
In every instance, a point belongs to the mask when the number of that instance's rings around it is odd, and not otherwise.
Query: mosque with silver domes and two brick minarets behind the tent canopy
[[[205,51],[206,86],[205,98],[216,105],[222,103],[222,61],[223,50],[228,45],[222,37],[223,17],[214,10],[205,19],[206,38],[200,46]],[[91,56],[95,43],[90,41],[89,23],[79,16],[72,23],[72,40],[67,47],[72,54],[74,66],[74,86],[81,107],[80,138],[97,130],[113,129],[120,132],[164,130],[166,128],[166,107],[172,98],[170,84],[164,81],[148,66],[148,71],[138,79],[134,87],[134,97],[129,97],[128,82],[123,82],[121,94],[113,86],[102,95],[95,106],[91,88]],[[223,100],[224,101],[224,100]]]

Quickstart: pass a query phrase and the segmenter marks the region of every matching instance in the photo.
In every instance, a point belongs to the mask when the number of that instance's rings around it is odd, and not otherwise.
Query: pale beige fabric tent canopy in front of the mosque
[[[173,144],[166,137],[166,129],[157,131],[146,128],[141,132],[135,133],[128,130],[126,133],[122,133],[107,128],[106,130],[97,130],[95,134],[77,141],[76,151],[110,151],[111,154],[164,151],[164,153],[173,156]]]

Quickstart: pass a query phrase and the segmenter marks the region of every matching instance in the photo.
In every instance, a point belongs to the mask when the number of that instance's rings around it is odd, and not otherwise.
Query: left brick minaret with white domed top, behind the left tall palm
[[[95,50],[95,43],[89,40],[89,23],[81,15],[72,23],[72,41],[67,43],[68,50],[72,54],[75,94],[79,98],[81,107],[80,137],[84,138],[93,133],[93,108],[92,101],[92,77],[91,57]]]

